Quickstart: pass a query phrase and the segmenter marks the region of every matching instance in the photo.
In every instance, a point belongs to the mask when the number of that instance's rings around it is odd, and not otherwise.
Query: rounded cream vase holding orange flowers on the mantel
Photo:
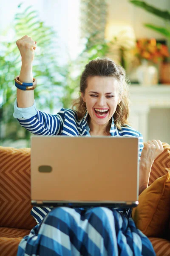
[[[150,86],[158,84],[158,70],[149,64],[147,60],[142,60],[142,64],[136,69],[136,76],[139,84]]]

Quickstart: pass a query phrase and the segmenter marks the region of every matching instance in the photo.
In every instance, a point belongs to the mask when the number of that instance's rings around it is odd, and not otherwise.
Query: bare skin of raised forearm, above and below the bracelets
[[[33,81],[32,62],[22,63],[19,80],[25,83]],[[34,90],[20,90],[17,88],[17,106],[19,108],[28,108],[34,104]]]

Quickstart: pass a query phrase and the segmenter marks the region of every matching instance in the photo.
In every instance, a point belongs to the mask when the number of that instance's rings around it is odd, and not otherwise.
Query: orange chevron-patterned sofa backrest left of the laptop
[[[31,230],[30,148],[0,146],[0,227]]]

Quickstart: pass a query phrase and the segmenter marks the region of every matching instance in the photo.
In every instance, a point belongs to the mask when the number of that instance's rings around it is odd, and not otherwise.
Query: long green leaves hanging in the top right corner
[[[144,1],[130,0],[130,3],[162,18],[165,21],[165,27],[155,26],[150,23],[144,23],[144,26],[161,33],[161,35],[164,35],[168,40],[170,40],[170,12],[162,11],[154,6],[148,5]]]

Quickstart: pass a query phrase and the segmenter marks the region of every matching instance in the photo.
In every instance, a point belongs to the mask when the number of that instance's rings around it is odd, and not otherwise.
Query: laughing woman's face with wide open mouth
[[[119,83],[113,77],[94,76],[88,78],[88,87],[82,99],[86,103],[91,121],[104,125],[113,116],[119,105]]]

